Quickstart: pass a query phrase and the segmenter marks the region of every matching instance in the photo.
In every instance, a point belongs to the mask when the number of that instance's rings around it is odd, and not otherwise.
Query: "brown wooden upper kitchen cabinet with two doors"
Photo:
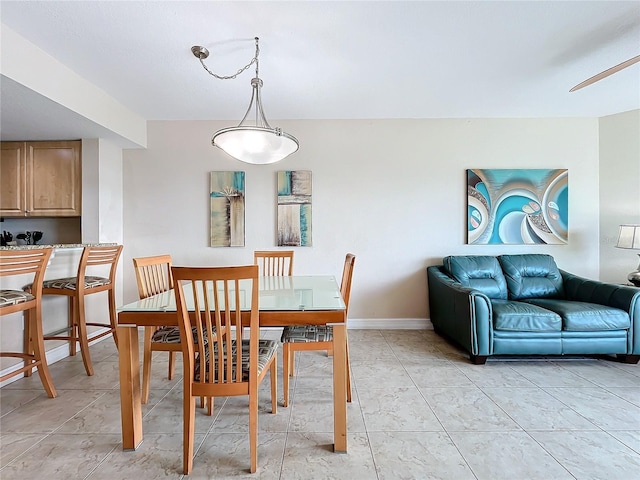
[[[0,215],[79,217],[82,142],[2,142]]]

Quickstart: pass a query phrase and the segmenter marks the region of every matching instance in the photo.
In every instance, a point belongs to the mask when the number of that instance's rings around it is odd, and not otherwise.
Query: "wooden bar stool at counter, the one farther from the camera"
[[[75,277],[45,280],[42,284],[43,295],[64,295],[69,299],[69,326],[45,335],[44,340],[67,340],[71,356],[76,354],[76,343],[80,342],[84,369],[89,376],[93,375],[89,343],[106,335],[113,335],[116,347],[118,346],[115,285],[116,270],[121,253],[122,245],[84,247],[78,264],[78,273]],[[96,270],[102,271],[106,267],[109,268],[108,277],[91,275],[91,273],[98,273]],[[87,322],[85,297],[100,292],[107,292],[109,323]],[[87,327],[102,327],[102,329],[89,336]],[[64,332],[69,332],[69,334],[60,335]]]

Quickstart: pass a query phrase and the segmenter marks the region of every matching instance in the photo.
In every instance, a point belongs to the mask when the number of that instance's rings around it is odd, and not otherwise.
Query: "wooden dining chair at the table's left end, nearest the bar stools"
[[[138,283],[138,296],[141,300],[173,288],[171,255],[134,258],[133,268]],[[142,403],[146,404],[149,401],[153,352],[169,352],[167,378],[171,380],[175,372],[175,354],[182,352],[180,329],[178,327],[144,327],[142,350]]]

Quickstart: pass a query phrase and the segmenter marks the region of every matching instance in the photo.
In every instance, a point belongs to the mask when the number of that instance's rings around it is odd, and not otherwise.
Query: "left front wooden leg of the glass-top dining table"
[[[136,325],[119,325],[117,328],[122,448],[123,450],[135,450],[142,443],[138,327]]]

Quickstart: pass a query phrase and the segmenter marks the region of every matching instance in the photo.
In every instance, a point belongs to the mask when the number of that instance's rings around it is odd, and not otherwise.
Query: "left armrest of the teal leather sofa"
[[[427,267],[429,312],[434,329],[472,355],[493,353],[492,308],[489,298],[463,287],[440,266]]]

